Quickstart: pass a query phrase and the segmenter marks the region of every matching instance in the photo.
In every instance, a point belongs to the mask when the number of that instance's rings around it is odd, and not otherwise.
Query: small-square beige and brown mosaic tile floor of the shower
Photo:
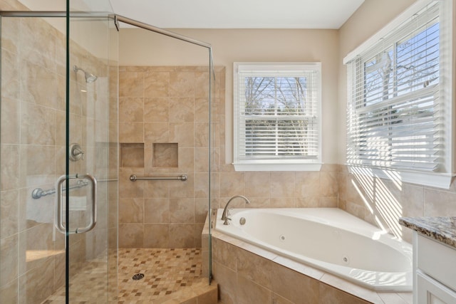
[[[207,278],[200,277],[199,248],[119,248],[118,255],[119,304],[162,303],[174,295],[182,295],[187,287],[207,285]],[[97,299],[104,298],[104,268],[104,263],[93,261],[73,278],[71,293],[77,303],[98,303]],[[144,277],[133,280],[138,273]],[[88,284],[95,294],[87,293]],[[97,295],[96,290],[103,294]],[[65,303],[64,288],[43,301],[43,304],[60,303]]]

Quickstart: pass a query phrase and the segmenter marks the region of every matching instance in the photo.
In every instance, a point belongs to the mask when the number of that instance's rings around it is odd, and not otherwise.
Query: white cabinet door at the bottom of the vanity
[[[418,304],[456,304],[456,292],[417,272]]]

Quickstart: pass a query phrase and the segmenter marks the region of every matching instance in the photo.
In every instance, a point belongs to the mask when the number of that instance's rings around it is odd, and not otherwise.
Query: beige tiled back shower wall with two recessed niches
[[[216,69],[217,78],[223,74]],[[123,66],[119,80],[119,246],[201,247],[209,209],[209,68]],[[130,182],[130,174],[188,180]]]

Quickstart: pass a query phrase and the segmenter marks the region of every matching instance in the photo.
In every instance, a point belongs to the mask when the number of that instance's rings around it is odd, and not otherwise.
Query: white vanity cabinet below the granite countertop
[[[456,304],[456,248],[413,231],[414,304]]]

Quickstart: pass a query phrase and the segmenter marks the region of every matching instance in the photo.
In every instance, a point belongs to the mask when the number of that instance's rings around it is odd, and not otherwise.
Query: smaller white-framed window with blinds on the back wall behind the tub
[[[320,83],[321,63],[234,63],[238,171],[320,169]]]

